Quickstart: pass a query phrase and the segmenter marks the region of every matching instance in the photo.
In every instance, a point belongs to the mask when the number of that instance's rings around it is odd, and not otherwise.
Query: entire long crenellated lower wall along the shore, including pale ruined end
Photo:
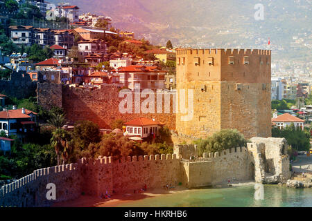
[[[0,189],[0,206],[50,206],[78,198],[82,193],[101,196],[133,193],[144,184],[148,189],[182,183],[189,188],[255,180],[262,183],[289,179],[289,157],[284,138],[253,137],[246,147],[231,148],[222,153],[204,153],[198,160],[187,160],[179,150],[196,153],[195,146],[177,146],[173,155],[145,155],[112,161],[112,157],[79,160],[76,164],[54,166]],[[193,149],[193,151],[192,151]],[[46,185],[56,186],[56,200],[46,200]]]

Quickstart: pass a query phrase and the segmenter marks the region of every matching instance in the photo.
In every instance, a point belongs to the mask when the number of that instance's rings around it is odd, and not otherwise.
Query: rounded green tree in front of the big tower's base
[[[236,129],[226,129],[214,133],[206,140],[199,140],[197,144],[199,153],[202,155],[202,153],[220,152],[232,147],[246,146],[247,140]]]

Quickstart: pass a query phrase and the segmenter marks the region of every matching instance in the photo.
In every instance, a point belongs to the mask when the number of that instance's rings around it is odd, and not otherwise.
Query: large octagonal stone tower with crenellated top
[[[176,130],[205,138],[236,128],[247,139],[270,137],[270,78],[270,50],[178,49]],[[193,112],[181,113],[182,94]],[[191,120],[185,120],[186,115]]]

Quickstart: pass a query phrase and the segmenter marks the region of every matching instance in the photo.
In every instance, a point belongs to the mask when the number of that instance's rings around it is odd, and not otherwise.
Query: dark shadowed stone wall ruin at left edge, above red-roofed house
[[[13,71],[10,81],[0,80],[0,93],[17,99],[35,96],[36,83],[26,71]]]

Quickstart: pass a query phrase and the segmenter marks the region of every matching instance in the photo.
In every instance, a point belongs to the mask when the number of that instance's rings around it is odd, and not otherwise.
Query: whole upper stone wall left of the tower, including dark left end
[[[69,124],[80,120],[92,121],[100,128],[110,128],[114,119],[123,119],[128,122],[137,117],[147,117],[162,122],[171,130],[175,130],[175,113],[173,113],[173,99],[175,93],[170,95],[168,107],[165,108],[165,95],[162,96],[162,107],[157,111],[157,95],[155,94],[155,113],[135,112],[135,93],[132,93],[132,113],[121,113],[119,111],[120,102],[125,99],[119,97],[119,89],[114,86],[103,86],[102,88],[91,90],[89,88],[69,88],[62,84],[37,83],[38,104],[46,109],[58,106],[64,109]],[[141,93],[142,95],[142,93]],[[141,97],[140,104],[147,99]],[[159,99],[161,99],[159,97]]]

